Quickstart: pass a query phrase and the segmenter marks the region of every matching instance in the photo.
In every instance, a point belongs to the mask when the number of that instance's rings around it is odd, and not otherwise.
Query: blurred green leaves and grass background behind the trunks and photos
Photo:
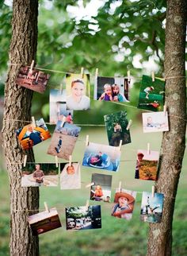
[[[8,69],[8,51],[11,38],[11,1],[0,1],[0,118],[3,111],[3,91]],[[164,29],[166,24],[165,0],[41,0],[39,6],[37,65],[41,68],[61,71],[49,72],[52,76],[44,95],[34,93],[32,114],[48,122],[49,90],[64,83],[65,72],[79,73],[81,67],[90,72],[91,95],[95,69],[99,76],[127,76],[131,71],[131,103],[116,104],[92,101],[90,111],[74,111],[74,123],[82,126],[75,145],[73,161],[82,162],[86,134],[90,142],[108,145],[104,126],[105,114],[117,111],[128,112],[132,119],[132,143],[122,146],[120,169],[117,173],[82,167],[82,189],[60,191],[59,188],[40,188],[40,209],[44,201],[48,207],[56,207],[63,227],[40,235],[40,255],[145,255],[148,223],[139,221],[141,192],[150,191],[152,181],[135,180],[135,158],[137,149],[160,150],[162,134],[143,134],[141,113],[138,103],[140,78],[163,76]],[[64,73],[63,73],[64,72]],[[2,126],[2,122],[1,122]],[[15,127],[17,128],[17,127]],[[48,126],[53,132],[55,126]],[[46,153],[51,140],[36,145],[36,161],[54,162]],[[0,148],[1,149],[1,148]],[[1,149],[2,150],[2,149]],[[174,211],[173,255],[187,255],[187,157],[185,154],[177,200]],[[122,188],[138,191],[135,210],[131,221],[112,217],[112,204],[101,202],[102,228],[90,231],[66,231],[65,207],[82,206],[90,196],[92,173],[113,175],[113,195],[120,180]],[[9,255],[10,237],[10,194],[6,167],[1,162],[0,170],[0,255]],[[112,199],[113,199],[112,195]],[[96,202],[90,201],[90,204]]]

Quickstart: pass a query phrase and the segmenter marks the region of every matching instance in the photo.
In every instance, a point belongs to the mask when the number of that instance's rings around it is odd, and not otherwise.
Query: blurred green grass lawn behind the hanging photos
[[[105,128],[84,128],[78,138],[74,149],[73,161],[82,162],[84,152],[84,141],[86,134],[90,134],[90,142],[108,144]],[[147,250],[147,230],[148,223],[142,223],[139,220],[141,192],[151,191],[150,180],[135,180],[135,156],[136,149],[147,149],[147,142],[151,143],[152,150],[159,150],[162,133],[158,133],[155,139],[152,134],[143,134],[142,129],[134,125],[131,129],[132,143],[123,145],[118,173],[101,171],[82,167],[82,189],[61,191],[59,188],[41,188],[40,189],[40,208],[44,209],[44,201],[47,201],[48,207],[56,207],[62,228],[50,231],[40,235],[40,255],[50,256],[141,256],[146,254]],[[50,140],[47,140],[34,148],[36,161],[55,161],[55,158],[41,152],[46,152]],[[185,155],[185,158],[186,155]],[[187,255],[187,159],[184,158],[183,171],[178,185],[177,200],[174,211],[173,225],[173,255]],[[90,183],[92,173],[104,173],[113,175],[113,195],[119,181],[122,181],[122,188],[138,191],[134,214],[131,221],[116,219],[110,215],[112,205],[101,203],[102,228],[98,230],[87,231],[66,231],[65,227],[65,207],[82,206],[90,196],[90,190],[85,185]],[[1,195],[1,213],[0,213],[0,246],[1,256],[9,254],[9,233],[10,233],[10,196],[9,182],[6,172],[1,172],[0,195]],[[90,201],[90,204],[97,202]]]

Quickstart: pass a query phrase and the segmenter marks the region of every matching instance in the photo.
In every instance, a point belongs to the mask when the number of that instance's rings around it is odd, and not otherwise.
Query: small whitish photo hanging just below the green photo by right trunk
[[[168,131],[168,114],[166,112],[143,113],[143,133]]]

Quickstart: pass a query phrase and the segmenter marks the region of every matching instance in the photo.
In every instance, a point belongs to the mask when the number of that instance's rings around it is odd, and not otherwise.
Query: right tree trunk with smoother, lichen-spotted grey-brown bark
[[[185,89],[185,33],[186,0],[168,0],[166,12],[165,76],[166,106],[170,117],[170,131],[162,138],[162,161],[156,191],[165,194],[162,223],[149,228],[147,255],[171,255],[172,221],[177,184],[185,152],[186,89]]]

